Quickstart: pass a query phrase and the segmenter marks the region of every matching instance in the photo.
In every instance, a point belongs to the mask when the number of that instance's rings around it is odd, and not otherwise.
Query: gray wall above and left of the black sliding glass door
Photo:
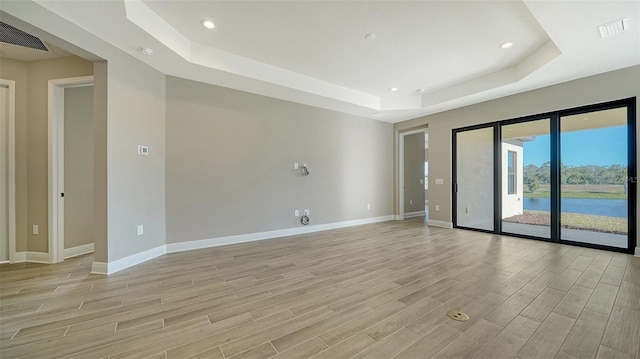
[[[640,98],[639,79],[640,66],[634,66],[395,124],[397,131],[428,124],[429,218],[451,222],[452,129],[634,96]],[[638,109],[637,105],[636,111]],[[636,119],[640,120],[638,113]],[[442,178],[444,184],[436,185],[437,178]],[[435,211],[436,205],[440,205],[439,212]]]

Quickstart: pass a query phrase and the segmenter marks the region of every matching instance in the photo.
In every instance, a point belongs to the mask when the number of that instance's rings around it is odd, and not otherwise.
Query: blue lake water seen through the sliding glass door
[[[562,198],[562,212],[593,214],[606,217],[627,217],[626,199]],[[524,198],[524,209],[550,211],[550,198]]]

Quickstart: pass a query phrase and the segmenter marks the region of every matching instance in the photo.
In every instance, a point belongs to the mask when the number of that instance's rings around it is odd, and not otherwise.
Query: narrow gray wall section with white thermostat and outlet
[[[117,54],[109,58],[107,74],[111,262],[165,244],[165,76]],[[138,145],[148,146],[149,156],[138,155]]]

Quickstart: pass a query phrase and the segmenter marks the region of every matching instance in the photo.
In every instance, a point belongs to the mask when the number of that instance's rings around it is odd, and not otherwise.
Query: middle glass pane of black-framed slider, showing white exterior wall
[[[501,132],[502,232],[551,238],[550,120]]]

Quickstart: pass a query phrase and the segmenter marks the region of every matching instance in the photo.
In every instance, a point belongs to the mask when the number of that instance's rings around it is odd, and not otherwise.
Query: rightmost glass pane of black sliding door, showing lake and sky
[[[560,129],[560,239],[627,248],[627,108],[564,116]]]

